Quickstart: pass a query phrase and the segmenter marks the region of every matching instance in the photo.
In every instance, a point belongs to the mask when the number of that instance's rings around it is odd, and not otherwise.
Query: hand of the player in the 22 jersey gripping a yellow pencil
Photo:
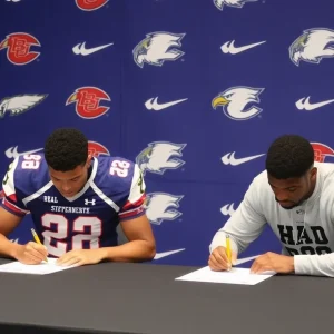
[[[23,264],[39,264],[48,256],[47,247],[33,242],[18,245],[16,258]]]

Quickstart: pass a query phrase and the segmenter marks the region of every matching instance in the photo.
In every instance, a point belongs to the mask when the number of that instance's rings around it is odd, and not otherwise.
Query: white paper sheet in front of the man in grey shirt
[[[250,274],[248,268],[232,268],[229,272],[214,272],[208,266],[177,277],[177,281],[208,282],[255,285],[275,275],[274,272],[265,274]]]

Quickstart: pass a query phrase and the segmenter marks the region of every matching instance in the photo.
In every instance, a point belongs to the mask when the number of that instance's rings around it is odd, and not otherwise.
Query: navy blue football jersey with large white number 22
[[[63,197],[50,179],[42,154],[17,157],[2,183],[1,206],[31,214],[49,256],[71,249],[117,245],[117,225],[145,214],[145,181],[138,165],[120,157],[94,157],[88,180],[73,197]]]

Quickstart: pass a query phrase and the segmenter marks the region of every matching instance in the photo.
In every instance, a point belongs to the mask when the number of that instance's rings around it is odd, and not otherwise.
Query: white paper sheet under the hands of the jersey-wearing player
[[[57,258],[48,258],[48,262],[42,262],[38,265],[24,265],[18,261],[0,265],[0,273],[18,273],[18,274],[35,274],[46,275],[60,271],[72,268],[73,266],[62,267],[56,264]]]

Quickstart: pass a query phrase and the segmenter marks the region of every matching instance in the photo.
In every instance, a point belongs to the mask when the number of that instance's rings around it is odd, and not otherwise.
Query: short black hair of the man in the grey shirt
[[[298,135],[284,135],[275,139],[266,157],[267,173],[277,179],[302,177],[313,164],[313,147]]]

